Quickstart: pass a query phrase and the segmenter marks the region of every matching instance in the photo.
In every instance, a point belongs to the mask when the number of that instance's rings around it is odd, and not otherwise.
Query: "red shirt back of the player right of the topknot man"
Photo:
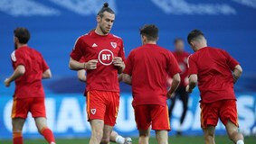
[[[173,54],[156,44],[133,49],[126,61],[125,74],[132,76],[133,105],[166,105],[167,74],[181,72]]]

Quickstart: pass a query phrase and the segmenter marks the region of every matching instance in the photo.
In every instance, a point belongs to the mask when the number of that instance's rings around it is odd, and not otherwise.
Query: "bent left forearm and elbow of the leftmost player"
[[[24,65],[19,65],[18,67],[15,68],[14,73],[12,76],[9,76],[8,78],[5,79],[5,86],[10,86],[10,84],[16,80],[17,78],[23,76],[25,73],[25,67]]]

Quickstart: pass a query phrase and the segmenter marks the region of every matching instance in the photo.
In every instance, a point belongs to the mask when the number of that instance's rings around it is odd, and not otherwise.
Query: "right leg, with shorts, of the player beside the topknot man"
[[[156,140],[158,144],[168,143],[168,130],[170,121],[167,105],[151,105],[152,130],[156,130]]]

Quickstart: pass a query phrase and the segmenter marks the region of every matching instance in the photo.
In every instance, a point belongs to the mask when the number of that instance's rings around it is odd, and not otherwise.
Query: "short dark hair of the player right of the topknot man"
[[[158,28],[155,24],[146,24],[139,31],[142,36],[147,37],[147,40],[157,40],[158,38]]]

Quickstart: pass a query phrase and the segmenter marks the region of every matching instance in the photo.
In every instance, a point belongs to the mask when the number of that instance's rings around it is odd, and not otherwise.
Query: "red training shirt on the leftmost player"
[[[19,65],[25,67],[24,75],[15,80],[14,97],[44,97],[42,78],[49,67],[41,53],[24,46],[14,50],[11,58],[14,69]]]

